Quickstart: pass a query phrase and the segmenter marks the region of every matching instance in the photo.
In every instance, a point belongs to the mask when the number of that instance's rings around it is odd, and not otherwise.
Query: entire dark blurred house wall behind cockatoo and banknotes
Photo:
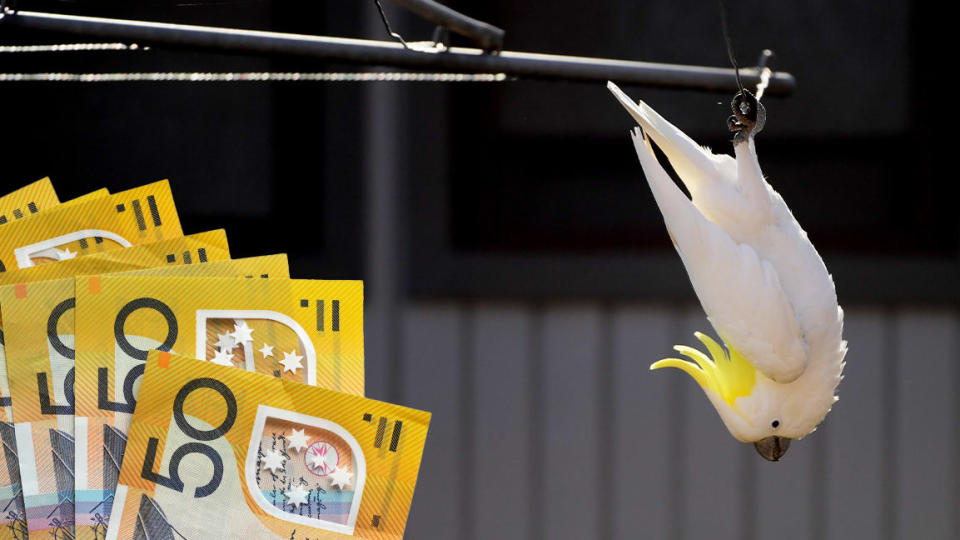
[[[958,538],[949,23],[905,0],[728,3],[741,63],[769,47],[797,78],[766,100],[758,150],[848,320],[840,402],[782,463],[730,438],[684,375],[647,372],[708,323],[602,85],[0,83],[0,191],[170,178],[187,231],[289,253],[296,277],[365,279],[369,395],[434,413],[409,538]],[[727,62],[712,1],[449,5],[509,49]],[[372,1],[20,8],[386,39]],[[65,39],[0,23],[3,43]],[[342,69],[358,68],[0,53],[8,73]],[[730,150],[731,96],[627,91]]]

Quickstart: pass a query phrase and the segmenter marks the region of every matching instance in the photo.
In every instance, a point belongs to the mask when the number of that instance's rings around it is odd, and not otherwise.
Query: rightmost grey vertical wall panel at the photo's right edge
[[[956,538],[953,430],[960,365],[955,312],[905,310],[897,324],[898,538]]]

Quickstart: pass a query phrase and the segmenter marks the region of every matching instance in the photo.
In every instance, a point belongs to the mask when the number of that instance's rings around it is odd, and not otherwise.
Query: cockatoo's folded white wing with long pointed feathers
[[[640,129],[634,146],[707,317],[757,370],[785,383],[807,365],[803,332],[774,267],[707,220],[673,183]],[[732,161],[732,160],[731,160]],[[678,171],[679,173],[679,171]]]

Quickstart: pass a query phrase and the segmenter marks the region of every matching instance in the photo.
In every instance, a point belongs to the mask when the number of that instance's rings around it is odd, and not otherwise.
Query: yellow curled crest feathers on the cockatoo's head
[[[694,335],[710,351],[712,360],[693,347],[675,345],[674,350],[696,363],[679,358],[664,358],[654,362],[650,369],[673,367],[682,370],[704,389],[709,388],[716,392],[731,407],[738,397],[750,395],[757,381],[757,370],[733,347],[727,346],[730,351],[727,354],[710,336],[701,332],[695,332]]]

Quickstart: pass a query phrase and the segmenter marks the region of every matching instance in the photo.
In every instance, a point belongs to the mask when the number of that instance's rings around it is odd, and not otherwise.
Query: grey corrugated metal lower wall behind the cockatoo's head
[[[687,375],[648,371],[709,330],[699,307],[415,302],[400,320],[395,393],[433,412],[408,538],[960,538],[955,310],[850,308],[840,401],[781,463]]]

